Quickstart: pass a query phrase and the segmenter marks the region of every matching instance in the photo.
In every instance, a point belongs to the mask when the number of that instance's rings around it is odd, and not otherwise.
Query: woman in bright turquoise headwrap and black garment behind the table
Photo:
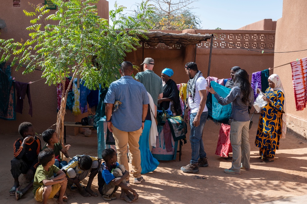
[[[177,84],[171,79],[174,74],[172,69],[162,70],[161,79],[163,81],[163,98],[158,99],[158,110],[171,110],[174,115],[181,114],[179,91]],[[171,104],[171,105],[170,105]]]

